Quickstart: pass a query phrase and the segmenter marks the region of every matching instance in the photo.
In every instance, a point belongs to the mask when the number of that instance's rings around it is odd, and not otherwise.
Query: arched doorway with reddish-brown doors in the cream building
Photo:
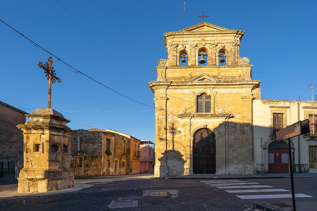
[[[268,173],[288,174],[288,144],[273,141],[268,144]]]

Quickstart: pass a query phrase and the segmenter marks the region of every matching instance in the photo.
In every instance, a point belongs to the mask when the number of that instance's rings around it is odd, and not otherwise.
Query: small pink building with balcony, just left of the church
[[[155,165],[155,144],[148,140],[141,140],[140,144],[140,172],[154,173]]]

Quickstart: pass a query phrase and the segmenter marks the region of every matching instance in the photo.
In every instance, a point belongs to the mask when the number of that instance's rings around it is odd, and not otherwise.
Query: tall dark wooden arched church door
[[[194,133],[193,173],[216,174],[216,139],[215,134],[207,128]]]

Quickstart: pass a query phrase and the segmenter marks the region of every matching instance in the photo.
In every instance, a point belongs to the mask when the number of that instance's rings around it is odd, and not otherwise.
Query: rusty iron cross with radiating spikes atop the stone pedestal
[[[49,97],[47,108],[51,108],[52,83],[55,83],[55,80],[57,80],[57,82],[61,82],[61,79],[56,77],[54,67],[52,67],[52,57],[49,56],[48,61],[49,62],[46,62],[44,65],[42,62],[38,61],[37,65],[40,68],[43,68],[44,73],[46,74],[45,76],[47,77],[47,80],[49,80]]]

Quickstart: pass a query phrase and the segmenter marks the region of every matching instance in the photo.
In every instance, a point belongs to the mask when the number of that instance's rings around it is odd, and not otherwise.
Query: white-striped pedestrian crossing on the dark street
[[[234,193],[242,195],[235,195],[240,199],[276,199],[276,198],[292,198],[292,194],[290,190],[286,189],[274,189],[273,186],[269,185],[261,185],[258,182],[249,182],[249,181],[241,181],[241,180],[208,180],[201,181],[211,187],[224,189],[224,191],[228,193]],[[257,185],[258,184],[258,185]],[[272,188],[272,189],[269,189]],[[272,194],[261,194],[265,192],[272,192]],[[287,194],[274,194],[274,192],[289,192]],[[254,195],[244,195],[245,193],[254,193]],[[299,197],[314,197],[306,194],[295,194],[296,198]]]

